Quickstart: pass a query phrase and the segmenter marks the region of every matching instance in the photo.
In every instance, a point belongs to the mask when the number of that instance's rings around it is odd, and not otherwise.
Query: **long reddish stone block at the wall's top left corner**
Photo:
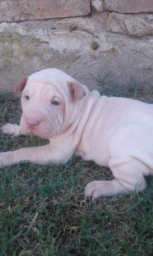
[[[90,0],[2,0],[0,22],[18,22],[90,14]]]

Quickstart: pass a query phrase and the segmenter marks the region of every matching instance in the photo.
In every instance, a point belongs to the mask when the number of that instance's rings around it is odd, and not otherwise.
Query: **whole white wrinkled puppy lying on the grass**
[[[64,163],[73,154],[109,166],[112,181],[92,181],[87,197],[130,194],[145,187],[153,174],[153,105],[126,98],[101,96],[57,69],[23,78],[20,126],[6,124],[3,132],[35,134],[49,144],[0,154],[1,167],[19,161]]]

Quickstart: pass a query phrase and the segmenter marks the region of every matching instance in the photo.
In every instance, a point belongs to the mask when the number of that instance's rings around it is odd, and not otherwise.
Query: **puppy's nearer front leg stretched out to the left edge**
[[[0,166],[17,164],[20,161],[30,161],[36,164],[56,162],[56,153],[50,150],[50,145],[25,147],[19,150],[0,154]]]

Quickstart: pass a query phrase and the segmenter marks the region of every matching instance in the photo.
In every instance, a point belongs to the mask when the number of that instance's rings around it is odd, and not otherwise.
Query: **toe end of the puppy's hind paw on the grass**
[[[98,197],[103,196],[104,193],[104,187],[103,183],[105,181],[92,181],[88,183],[85,187],[85,195],[86,197],[92,197],[92,200],[94,201]]]

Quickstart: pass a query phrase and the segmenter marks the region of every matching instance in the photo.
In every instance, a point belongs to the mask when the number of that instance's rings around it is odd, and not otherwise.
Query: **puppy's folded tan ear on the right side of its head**
[[[84,87],[82,86],[81,83],[74,81],[74,82],[67,82],[67,85],[73,95],[74,100],[80,100],[86,95]]]

